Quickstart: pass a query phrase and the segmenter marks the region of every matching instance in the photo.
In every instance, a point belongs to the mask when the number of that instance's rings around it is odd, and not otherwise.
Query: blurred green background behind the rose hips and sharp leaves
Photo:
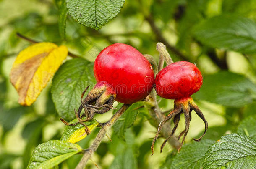
[[[196,63],[204,77],[228,70],[245,76],[255,84],[255,54],[243,55],[210,48],[193,38],[193,25],[224,13],[242,15],[255,21],[256,1],[126,0],[117,17],[99,31],[79,25],[68,15],[66,38],[63,39],[58,30],[59,12],[55,0],[0,0],[0,169],[26,168],[31,151],[42,142],[60,139],[65,127],[51,99],[51,82],[32,106],[18,105],[18,94],[9,79],[10,68],[17,54],[30,43],[18,38],[17,32],[41,42],[65,44],[69,51],[91,62],[100,50],[112,43],[130,44],[143,54],[153,55],[157,60],[156,43],[162,41],[174,61],[184,58],[172,53],[172,46],[183,53],[185,60]],[[235,81],[228,77],[227,82]],[[212,81],[212,86],[215,83],[217,85],[221,82]],[[204,90],[211,89],[204,86]],[[242,119],[256,111],[255,95],[252,101],[242,106],[221,105],[214,101],[211,103],[211,96],[208,96],[208,101],[201,97],[199,93],[195,101],[209,124],[209,131],[203,139],[217,140],[221,135],[231,133]],[[173,106],[172,100],[159,98],[159,101],[162,111],[170,110]],[[158,147],[164,139],[158,139],[155,154],[151,156],[150,146],[157,129],[149,124],[144,114],[139,112],[134,125],[126,130],[125,141],[113,132],[109,133],[112,142],[104,139],[92,158],[100,169],[156,169],[165,163],[172,147],[167,144],[160,154]],[[103,122],[111,116],[110,111],[96,116],[96,119]],[[182,116],[181,121],[183,119]],[[176,133],[183,129],[184,123],[181,122]],[[204,123],[192,114],[185,143],[191,142],[203,130]],[[83,148],[88,147],[97,131],[99,129],[78,144]],[[60,168],[73,169],[80,158],[81,155],[76,155],[63,162]],[[86,168],[96,169],[93,161],[89,161]]]

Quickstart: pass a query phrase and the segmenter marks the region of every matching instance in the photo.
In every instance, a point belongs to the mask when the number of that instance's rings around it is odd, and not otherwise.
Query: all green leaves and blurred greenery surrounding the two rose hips
[[[206,135],[193,141],[204,127],[192,117],[180,153],[167,142],[162,154],[151,156],[159,122],[152,118],[151,101],[138,102],[115,123],[108,133],[112,142],[104,137],[92,160],[100,169],[256,168],[255,0],[0,0],[0,10],[0,169],[26,168],[29,159],[28,168],[76,168],[82,148],[91,145],[100,128],[78,146],[67,141],[84,126],[65,126],[59,118],[77,121],[74,109],[86,86],[90,91],[96,83],[92,62],[100,50],[127,43],[157,61],[155,44],[162,40],[170,53],[178,50],[203,73],[203,86],[192,97],[208,121]],[[68,57],[31,107],[18,106],[10,68],[17,53],[31,43],[17,32],[38,42],[64,44],[88,61]],[[173,60],[184,59],[173,55]],[[162,112],[173,108],[172,100],[157,96],[157,101]],[[107,121],[116,111],[85,124]],[[168,123],[173,127],[172,119]],[[94,168],[94,163],[86,164],[86,169]]]

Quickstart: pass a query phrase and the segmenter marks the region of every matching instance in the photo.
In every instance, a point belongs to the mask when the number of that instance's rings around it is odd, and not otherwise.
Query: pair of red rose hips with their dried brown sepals
[[[174,134],[182,112],[185,116],[185,130],[178,137],[179,139],[184,134],[182,144],[188,133],[192,110],[196,111],[196,114],[203,119],[205,134],[207,122],[196,103],[190,97],[193,93],[199,91],[202,85],[201,72],[193,63],[179,61],[169,64],[157,73],[154,80],[153,68],[144,55],[130,45],[116,43],[99,53],[94,62],[94,76],[98,83],[84,100],[82,98],[86,90],[81,96],[82,104],[78,112],[76,112],[79,123],[84,125],[83,122],[92,119],[94,113],[103,114],[109,111],[114,100],[120,103],[132,104],[146,98],[155,83],[157,95],[167,99],[174,99],[175,105],[170,114],[159,124],[157,134],[152,143],[152,154],[154,142],[163,124],[174,116],[175,126],[170,136],[162,144],[161,152],[167,140]],[[85,113],[81,115],[83,108]],[[84,116],[86,116],[86,119],[82,120]],[[87,133],[90,133],[89,129]],[[194,140],[200,141],[202,136]]]

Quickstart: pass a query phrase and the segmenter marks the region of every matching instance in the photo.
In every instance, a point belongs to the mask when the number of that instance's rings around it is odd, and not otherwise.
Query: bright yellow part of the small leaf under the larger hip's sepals
[[[88,128],[90,129],[90,131],[92,131],[98,124],[99,123],[92,124],[92,125],[88,126]],[[80,129],[76,130],[75,132],[73,132],[73,134],[71,134],[71,136],[69,136],[68,142],[76,143],[76,142],[84,139],[87,136],[84,129],[85,129],[85,127],[82,127]]]

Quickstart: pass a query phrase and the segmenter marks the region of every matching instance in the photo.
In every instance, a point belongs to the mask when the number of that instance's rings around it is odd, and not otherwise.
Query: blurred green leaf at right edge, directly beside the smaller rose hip
[[[193,95],[196,99],[241,107],[255,99],[256,85],[245,76],[227,71],[218,72],[203,78],[203,85]]]

